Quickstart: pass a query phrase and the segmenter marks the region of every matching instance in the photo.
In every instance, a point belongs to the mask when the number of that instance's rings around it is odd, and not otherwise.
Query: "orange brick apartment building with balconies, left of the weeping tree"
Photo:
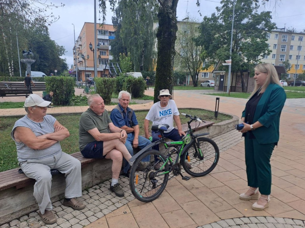
[[[94,29],[97,29],[97,37],[94,37]],[[85,81],[85,78],[94,77],[94,64],[97,66],[97,77],[108,77],[110,75],[109,68],[111,67],[108,63],[113,58],[110,50],[111,41],[115,39],[114,31],[113,25],[104,24],[100,26],[97,24],[94,28],[94,23],[84,23],[73,48],[74,68],[70,73],[76,76],[75,66],[77,65],[78,81]],[[97,47],[94,47],[94,39],[97,40]],[[96,56],[93,49],[97,50]]]

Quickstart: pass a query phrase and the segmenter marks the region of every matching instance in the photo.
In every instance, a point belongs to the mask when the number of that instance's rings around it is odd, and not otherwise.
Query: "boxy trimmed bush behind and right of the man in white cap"
[[[53,91],[53,103],[55,105],[70,105],[70,99],[74,96],[74,78],[71,77],[45,77],[45,90]]]

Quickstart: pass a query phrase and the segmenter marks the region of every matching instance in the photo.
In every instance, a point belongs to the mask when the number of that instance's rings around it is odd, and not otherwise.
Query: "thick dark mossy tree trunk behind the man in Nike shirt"
[[[159,0],[159,27],[157,32],[158,54],[156,67],[156,85],[154,103],[158,102],[161,89],[173,92],[175,41],[177,39],[177,4],[178,0]]]

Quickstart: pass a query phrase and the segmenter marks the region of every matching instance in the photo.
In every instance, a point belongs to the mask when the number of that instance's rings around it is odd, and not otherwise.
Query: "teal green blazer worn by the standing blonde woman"
[[[285,100],[286,93],[282,86],[277,84],[268,85],[257,104],[253,116],[253,123],[259,121],[263,125],[252,131],[258,143],[268,144],[278,142],[280,116]],[[245,113],[246,108],[242,112],[242,117],[245,117]]]

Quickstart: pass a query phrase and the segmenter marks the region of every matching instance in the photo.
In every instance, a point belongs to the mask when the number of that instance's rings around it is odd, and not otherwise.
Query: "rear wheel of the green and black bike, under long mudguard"
[[[148,155],[150,161],[143,166],[141,160]],[[158,150],[147,150],[135,160],[129,174],[129,186],[135,198],[150,202],[161,195],[168,180],[169,167],[165,161],[166,158]]]

